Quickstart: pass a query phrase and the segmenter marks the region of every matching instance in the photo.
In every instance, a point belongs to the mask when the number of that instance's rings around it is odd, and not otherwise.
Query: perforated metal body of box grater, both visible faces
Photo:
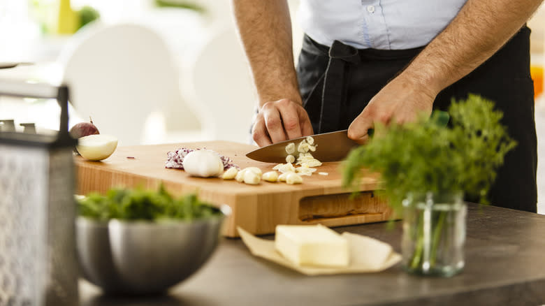
[[[78,305],[70,148],[0,144],[0,306]]]

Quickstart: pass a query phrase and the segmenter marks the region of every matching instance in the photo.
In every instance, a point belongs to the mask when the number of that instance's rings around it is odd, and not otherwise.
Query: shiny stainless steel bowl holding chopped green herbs
[[[220,228],[231,212],[195,221],[76,220],[82,276],[106,293],[166,291],[201,268],[217,247]]]

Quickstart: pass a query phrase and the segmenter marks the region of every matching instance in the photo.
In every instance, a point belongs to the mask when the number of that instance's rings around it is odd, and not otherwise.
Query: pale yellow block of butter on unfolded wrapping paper
[[[278,225],[275,248],[296,265],[346,267],[349,245],[346,238],[322,225]]]

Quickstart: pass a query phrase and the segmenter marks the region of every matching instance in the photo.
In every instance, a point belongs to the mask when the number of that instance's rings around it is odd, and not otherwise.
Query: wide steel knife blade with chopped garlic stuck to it
[[[314,143],[317,145],[317,147],[315,152],[310,153],[315,159],[322,162],[340,161],[344,159],[351,149],[358,146],[358,143],[348,138],[347,131],[348,130],[342,130],[312,135],[311,137],[314,138]],[[264,161],[266,163],[285,163],[286,156],[288,156],[288,153],[286,152],[286,145],[289,143],[295,143],[296,152],[293,154],[297,158],[297,146],[301,140],[305,138],[307,138],[307,136],[285,140],[279,143],[273,143],[273,145],[260,147],[259,149],[249,152],[246,154],[246,156],[250,159]]]

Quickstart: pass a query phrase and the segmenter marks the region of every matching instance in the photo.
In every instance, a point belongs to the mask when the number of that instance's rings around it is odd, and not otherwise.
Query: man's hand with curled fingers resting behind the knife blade
[[[260,147],[312,134],[307,111],[289,99],[263,104],[252,128],[252,138]]]

